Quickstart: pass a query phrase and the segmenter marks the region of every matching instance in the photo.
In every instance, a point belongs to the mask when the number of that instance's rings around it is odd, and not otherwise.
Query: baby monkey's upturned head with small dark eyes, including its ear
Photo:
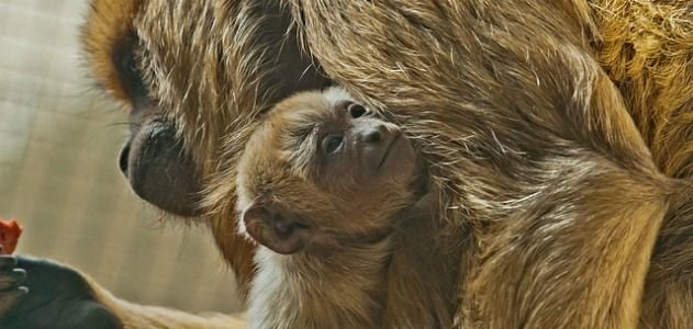
[[[284,254],[373,239],[413,203],[417,171],[399,126],[342,89],[300,93],[268,113],[241,157],[241,228]]]

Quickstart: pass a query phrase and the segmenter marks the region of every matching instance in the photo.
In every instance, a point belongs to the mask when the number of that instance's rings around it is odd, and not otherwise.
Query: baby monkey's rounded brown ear
[[[302,250],[312,236],[311,227],[295,214],[271,203],[250,204],[243,212],[243,223],[255,241],[281,254]]]

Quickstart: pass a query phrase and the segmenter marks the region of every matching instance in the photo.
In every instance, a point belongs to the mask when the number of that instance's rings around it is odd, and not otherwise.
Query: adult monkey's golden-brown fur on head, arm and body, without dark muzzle
[[[255,116],[294,87],[269,68],[299,39],[422,141],[462,250],[456,327],[693,328],[693,204],[664,178],[693,173],[691,2],[130,3],[96,1],[89,63],[126,101],[98,49],[132,27],[242,284],[252,246],[228,182]]]

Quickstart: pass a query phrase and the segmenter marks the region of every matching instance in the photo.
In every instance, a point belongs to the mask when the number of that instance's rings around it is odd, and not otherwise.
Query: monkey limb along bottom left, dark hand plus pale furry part
[[[83,273],[63,264],[16,257],[16,269],[26,271],[21,284],[25,296],[0,293],[0,327],[14,328],[245,328],[242,317],[221,314],[187,314],[172,308],[144,306],[116,298]],[[14,263],[2,256],[0,281]],[[16,298],[14,298],[16,297]]]

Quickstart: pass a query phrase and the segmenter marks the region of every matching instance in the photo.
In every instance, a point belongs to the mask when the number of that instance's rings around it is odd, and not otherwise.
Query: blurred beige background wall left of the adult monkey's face
[[[0,217],[18,253],[89,273],[115,295],[191,311],[238,309],[202,227],[165,225],[116,167],[126,116],[79,57],[87,0],[0,0]]]

